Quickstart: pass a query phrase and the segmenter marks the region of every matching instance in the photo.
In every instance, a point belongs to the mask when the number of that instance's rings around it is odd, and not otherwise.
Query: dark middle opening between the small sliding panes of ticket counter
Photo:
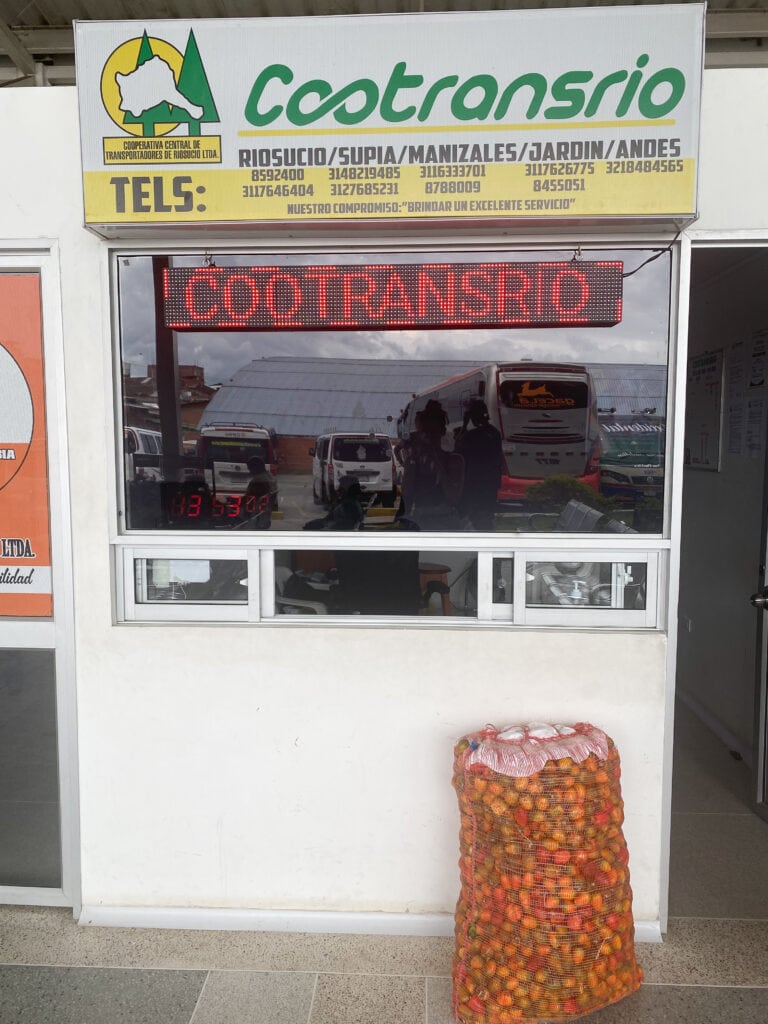
[[[477,560],[466,552],[278,551],[279,615],[477,614]]]

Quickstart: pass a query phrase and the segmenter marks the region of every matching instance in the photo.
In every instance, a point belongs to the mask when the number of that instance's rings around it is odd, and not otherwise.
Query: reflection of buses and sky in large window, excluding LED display
[[[467,262],[466,253],[439,257]],[[204,255],[120,257],[127,527],[326,528],[317,521],[350,477],[362,499],[353,528],[385,539],[525,532],[532,515],[554,520],[571,500],[660,532],[672,257],[596,249],[585,259],[624,262],[612,327],[174,333],[156,322],[159,264],[198,267]],[[365,267],[392,256],[344,260]],[[246,267],[259,257],[215,261]]]

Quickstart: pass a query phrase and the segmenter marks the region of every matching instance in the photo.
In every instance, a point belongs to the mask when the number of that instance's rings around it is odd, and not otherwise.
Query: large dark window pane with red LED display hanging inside
[[[587,309],[583,261],[621,298]],[[121,255],[124,529],[659,535],[671,272],[660,248]]]

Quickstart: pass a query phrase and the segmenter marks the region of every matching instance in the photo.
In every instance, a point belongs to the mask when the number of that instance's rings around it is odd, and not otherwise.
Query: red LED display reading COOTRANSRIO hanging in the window
[[[173,331],[613,327],[624,263],[391,263],[164,270]]]

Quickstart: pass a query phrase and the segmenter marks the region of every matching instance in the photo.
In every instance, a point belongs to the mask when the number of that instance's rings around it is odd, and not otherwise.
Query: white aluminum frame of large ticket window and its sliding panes
[[[684,241],[684,240],[683,240]],[[606,535],[566,535],[566,534],[532,534],[514,535],[474,535],[467,534],[430,534],[421,532],[398,536],[396,542],[382,544],[382,535],[376,530],[362,530],[358,534],[326,535],[323,540],[318,535],[307,535],[289,530],[270,530],[262,534],[258,540],[249,536],[244,545],[242,534],[231,536],[218,530],[195,531],[194,542],[189,530],[128,530],[125,522],[125,468],[123,458],[123,403],[122,403],[122,348],[119,316],[118,294],[118,260],[126,256],[191,256],[203,250],[215,256],[230,254],[252,254],[255,260],[279,260],[283,256],[302,254],[322,254],[329,259],[343,261],[351,254],[381,254],[390,259],[403,254],[411,257],[437,255],[439,252],[451,251],[467,256],[481,258],[485,253],[499,252],[504,249],[510,253],[516,249],[553,251],[556,249],[577,249],[581,247],[614,249],[614,250],[649,250],[669,248],[671,254],[670,284],[670,315],[667,348],[667,432],[665,452],[665,492],[663,507],[663,527],[657,534],[623,535],[617,544],[616,536]],[[667,586],[670,579],[670,559],[672,557],[673,512],[676,496],[673,488],[677,484],[677,471],[673,473],[676,462],[673,461],[676,436],[675,394],[679,390],[677,365],[677,346],[679,332],[680,274],[684,268],[683,244],[679,236],[659,228],[652,237],[640,237],[631,229],[617,238],[606,238],[604,233],[584,232],[574,244],[572,233],[553,231],[542,236],[526,236],[521,233],[511,243],[509,238],[488,239],[483,237],[465,237],[450,239],[443,237],[397,237],[393,239],[356,237],[338,237],[316,242],[306,237],[266,238],[262,243],[252,240],[240,244],[231,239],[217,239],[206,242],[205,246],[197,240],[196,244],[185,242],[150,242],[141,240],[131,245],[127,240],[110,244],[108,249],[109,275],[111,285],[111,321],[113,331],[113,395],[114,395],[114,429],[115,429],[115,464],[114,464],[114,529],[112,531],[112,548],[114,554],[114,573],[116,579],[116,623],[139,625],[141,623],[173,623],[198,622],[211,624],[227,623],[261,624],[269,626],[354,626],[358,629],[375,626],[417,627],[429,629],[445,628],[569,628],[569,629],[642,629],[663,631],[668,628],[667,617],[669,601]],[[574,358],[577,355],[574,354]],[[393,541],[393,539],[392,539]],[[191,542],[191,543],[190,543]],[[606,544],[606,542],[608,542]],[[194,543],[194,546],[193,546]],[[281,550],[328,550],[333,547],[341,549],[382,549],[392,550],[418,549],[424,553],[430,551],[474,551],[478,558],[477,580],[477,616],[372,616],[372,615],[279,615],[274,614],[274,560],[275,551]],[[248,562],[248,603],[247,605],[225,606],[215,604],[193,605],[179,602],[174,609],[168,609],[165,604],[140,605],[135,596],[130,593],[133,571],[131,552],[134,557],[173,558],[173,557],[209,557],[245,558]],[[184,554],[182,554],[185,553]],[[140,554],[137,554],[140,553]],[[226,553],[226,554],[225,554]],[[648,583],[646,607],[639,609],[623,608],[526,608],[524,600],[519,599],[524,590],[520,591],[515,583],[514,614],[506,612],[506,606],[493,609],[493,594],[490,590],[494,557],[514,557],[515,573],[518,565],[524,560],[548,560],[547,556],[557,553],[564,558],[569,554],[573,560],[601,561],[614,560],[632,562],[642,560],[647,565]],[[578,555],[578,558],[577,558]],[[129,571],[130,563],[130,571]],[[170,603],[170,602],[169,602]],[[186,604],[182,607],[182,604]],[[152,612],[147,609],[152,607]],[[246,614],[232,614],[231,609],[247,608]],[[229,611],[227,610],[229,609]],[[165,613],[163,613],[165,612]],[[172,612],[172,613],[171,613]]]

